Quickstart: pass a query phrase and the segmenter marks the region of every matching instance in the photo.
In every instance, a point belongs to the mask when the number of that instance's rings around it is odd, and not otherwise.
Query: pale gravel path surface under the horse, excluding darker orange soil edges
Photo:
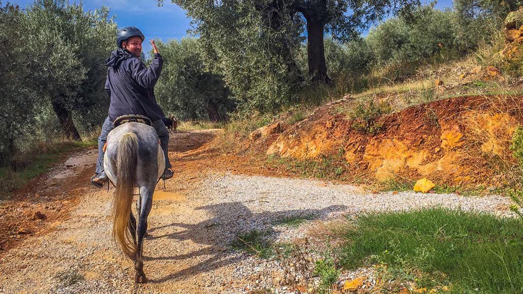
[[[303,278],[298,264],[234,251],[229,244],[238,234],[269,230],[274,242],[303,242],[322,221],[361,211],[445,206],[507,215],[510,203],[501,196],[367,194],[322,181],[213,174],[196,191],[170,186],[157,191],[144,245],[150,283],[135,285],[132,264],[110,239],[113,190],[77,192],[83,196],[69,219],[0,257],[0,293],[289,293],[289,275]],[[282,225],[294,217],[308,220],[298,227]],[[311,247],[307,254],[313,260],[315,253]],[[371,276],[372,269],[343,278],[363,274]]]

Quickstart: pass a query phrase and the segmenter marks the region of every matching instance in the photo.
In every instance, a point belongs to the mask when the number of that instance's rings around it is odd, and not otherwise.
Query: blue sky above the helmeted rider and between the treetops
[[[424,3],[430,1],[422,0]],[[9,1],[26,7],[33,1],[14,0]],[[79,1],[70,0],[70,3]],[[187,35],[190,28],[190,20],[185,15],[185,11],[179,6],[165,0],[162,7],[157,6],[155,0],[85,0],[84,8],[95,9],[102,5],[110,7],[110,14],[116,15],[116,22],[119,28],[136,26],[144,33],[147,40],[160,39],[181,39]],[[439,0],[436,8],[444,9],[452,5],[452,0]],[[151,50],[149,41],[143,44],[144,52]]]

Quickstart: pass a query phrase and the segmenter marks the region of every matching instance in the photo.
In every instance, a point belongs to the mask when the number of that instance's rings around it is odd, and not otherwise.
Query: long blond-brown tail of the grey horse
[[[135,259],[137,248],[133,242],[129,221],[131,215],[132,192],[136,183],[138,161],[138,137],[134,133],[124,134],[116,156],[116,192],[112,205],[114,222],[112,237],[120,245],[123,254]]]

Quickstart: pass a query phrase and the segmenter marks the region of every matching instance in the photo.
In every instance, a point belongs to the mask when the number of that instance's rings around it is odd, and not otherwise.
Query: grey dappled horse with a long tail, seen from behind
[[[143,237],[147,231],[147,216],[151,211],[154,189],[165,169],[164,153],[154,128],[137,122],[115,127],[107,136],[104,168],[116,186],[112,236],[123,253],[134,262],[135,281],[146,283],[142,260]],[[131,211],[134,187],[140,191],[136,205],[138,226]]]

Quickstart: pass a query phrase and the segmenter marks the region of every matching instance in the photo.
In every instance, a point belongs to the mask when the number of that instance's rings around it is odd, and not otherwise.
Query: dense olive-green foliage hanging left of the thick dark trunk
[[[241,110],[271,112],[291,101],[301,79],[293,60],[302,41],[300,21],[292,25],[285,13],[266,15],[250,1],[178,4],[197,23],[204,63],[223,77]]]

